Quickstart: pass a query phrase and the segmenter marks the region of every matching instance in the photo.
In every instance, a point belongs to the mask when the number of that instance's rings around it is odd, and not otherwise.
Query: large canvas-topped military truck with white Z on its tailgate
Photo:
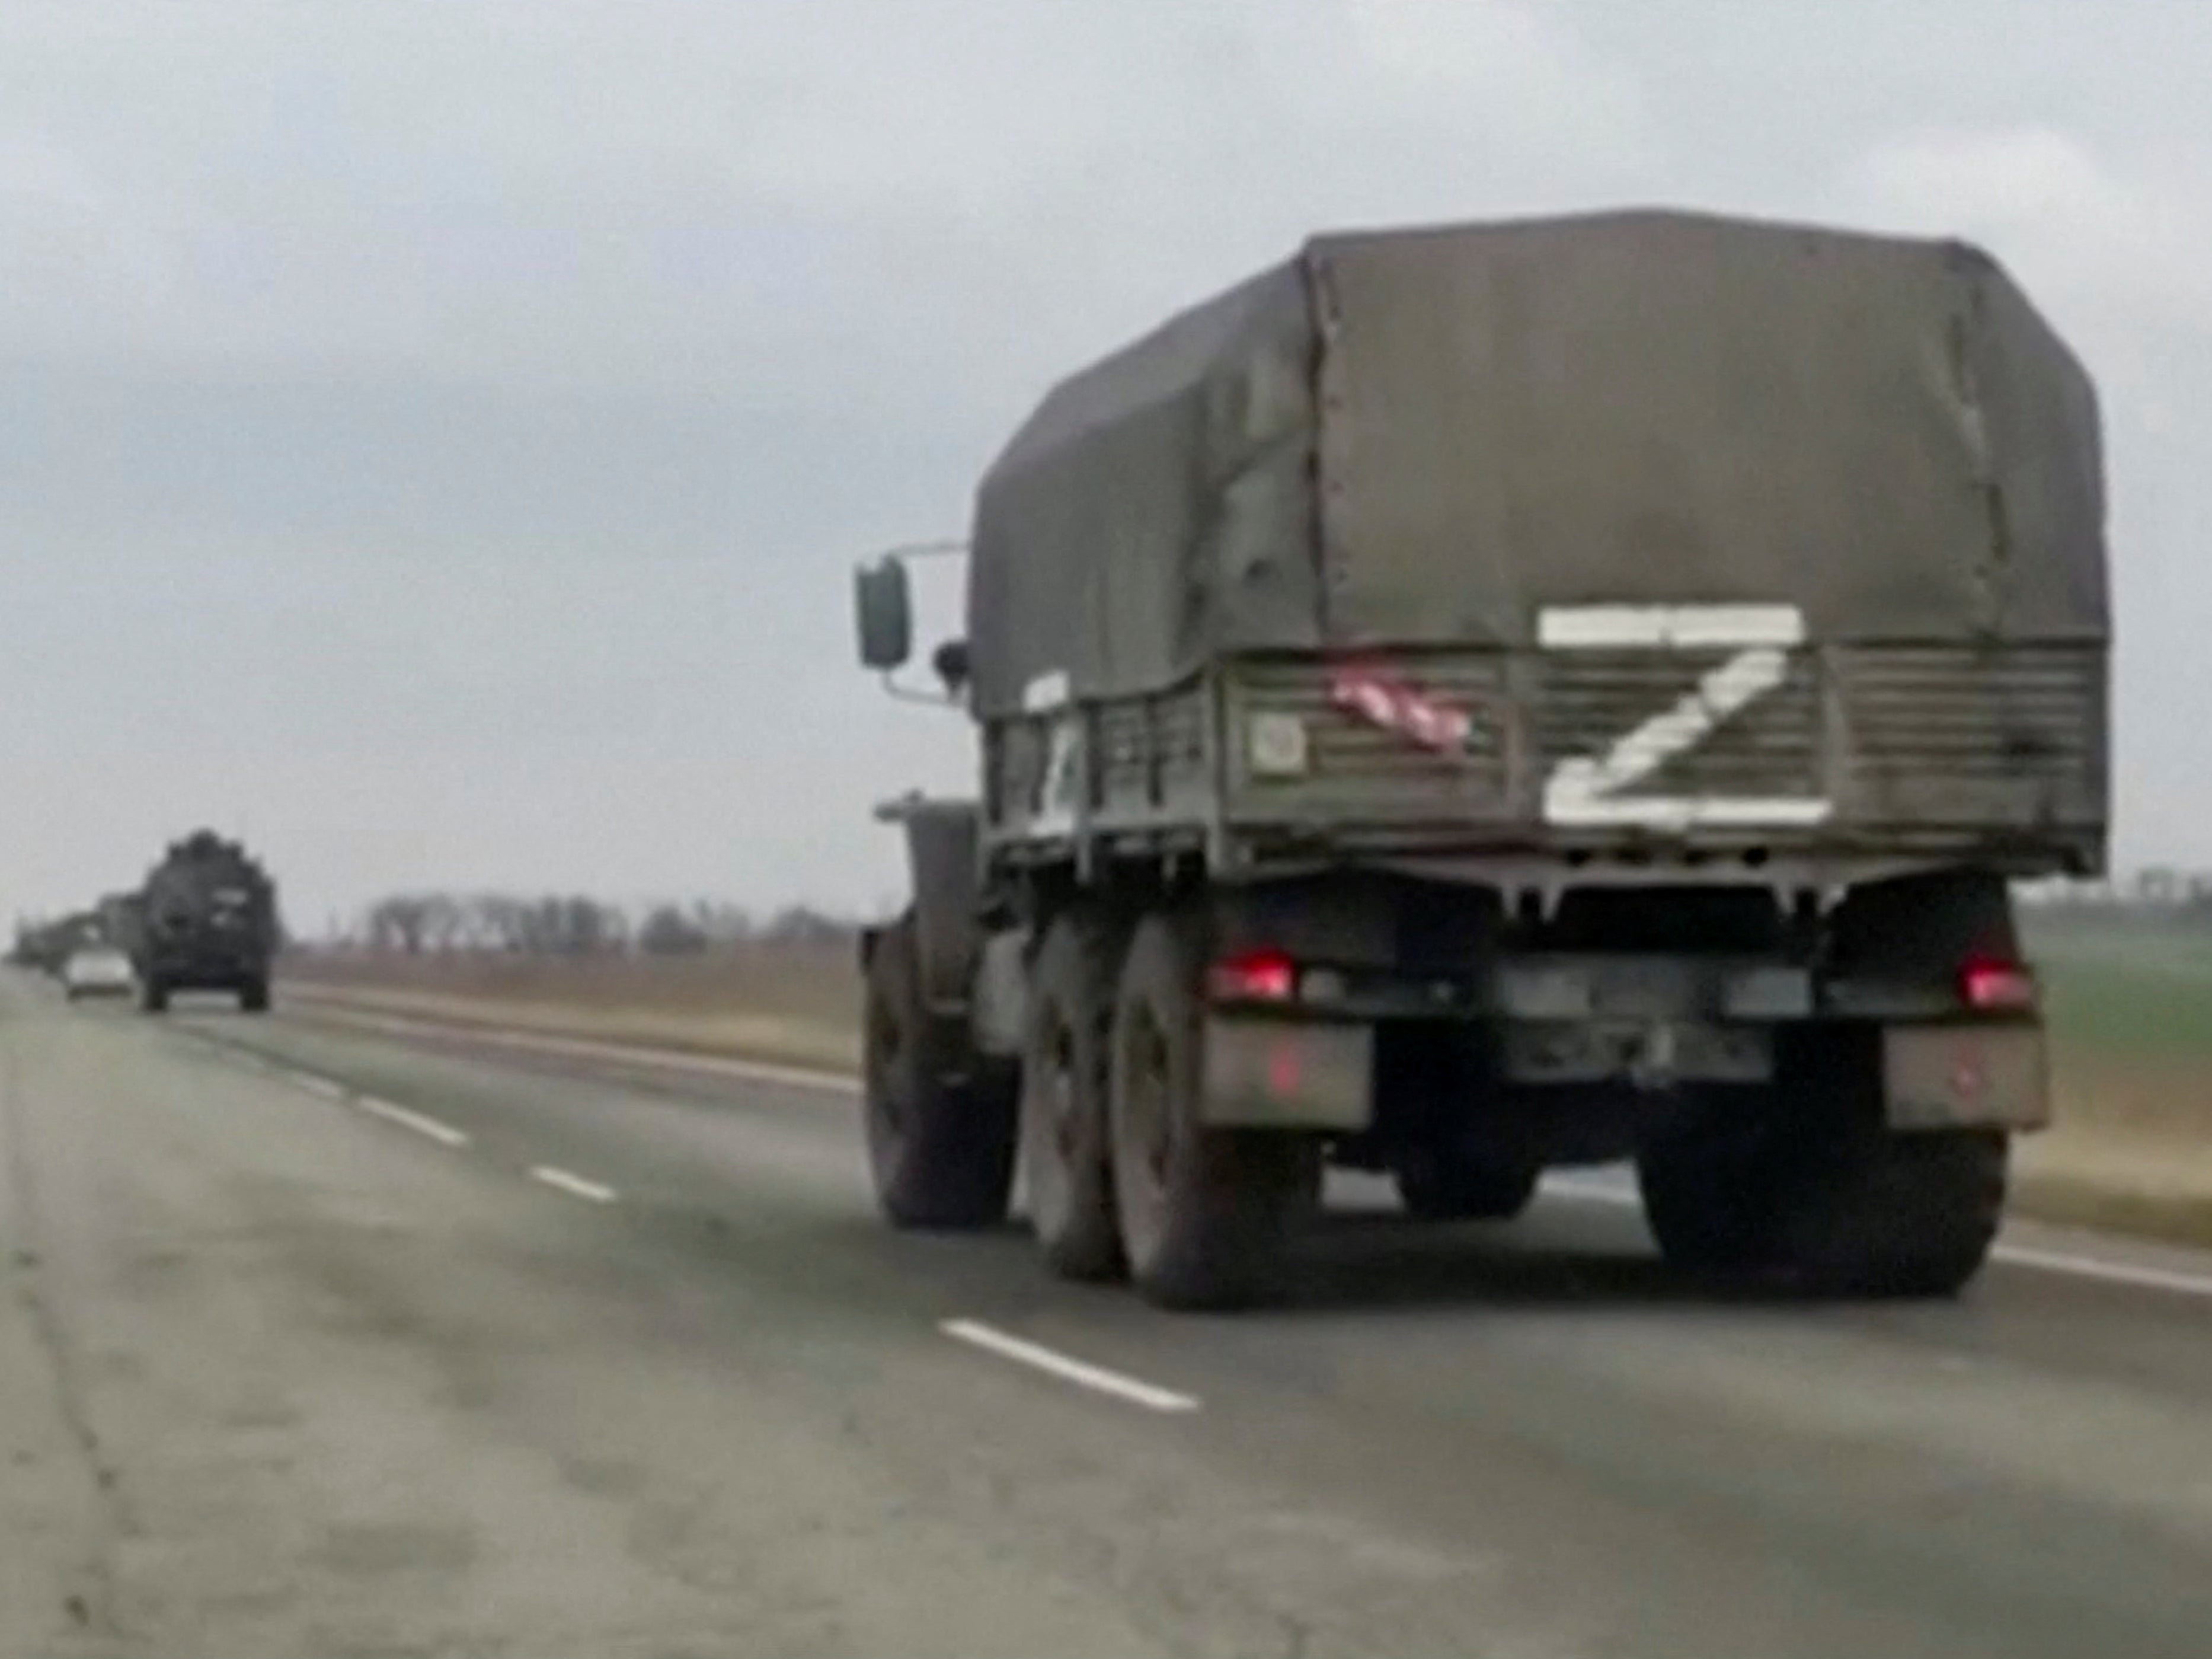
[[[860,655],[914,644],[860,568]],[[2104,869],[2095,392],[1986,254],[1329,234],[1066,383],[936,653],[978,799],[865,938],[885,1214],[1265,1294],[1327,1164],[1940,1296],[2051,1104],[2008,883]],[[911,690],[911,688],[909,688]]]

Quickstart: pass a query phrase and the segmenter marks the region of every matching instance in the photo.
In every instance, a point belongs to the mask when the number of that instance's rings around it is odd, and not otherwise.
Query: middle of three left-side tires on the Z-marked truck
[[[1022,1177],[1046,1267],[1062,1279],[1124,1272],[1113,1201],[1108,1053],[1124,929],[1066,911],[1029,980],[1022,1040]]]

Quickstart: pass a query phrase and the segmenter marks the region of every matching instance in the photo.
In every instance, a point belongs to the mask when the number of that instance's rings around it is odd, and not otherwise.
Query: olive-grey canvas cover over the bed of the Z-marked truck
[[[987,473],[975,708],[1553,606],[2097,644],[2088,376],[1953,241],[1621,212],[1336,234],[1060,385]]]

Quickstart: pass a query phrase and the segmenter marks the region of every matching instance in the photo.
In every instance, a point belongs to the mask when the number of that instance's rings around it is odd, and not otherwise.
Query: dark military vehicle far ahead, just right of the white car
[[[175,991],[232,991],[246,1013],[268,1011],[276,889],[237,841],[197,830],[170,843],[128,925],[146,1013]]]

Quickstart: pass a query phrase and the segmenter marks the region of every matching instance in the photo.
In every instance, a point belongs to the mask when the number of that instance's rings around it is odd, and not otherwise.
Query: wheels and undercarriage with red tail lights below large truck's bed
[[[1210,1307],[1267,1292],[1329,1164],[1473,1221],[1520,1212],[1546,1168],[1632,1159],[1681,1265],[1933,1294],[1995,1234],[2006,1135],[2048,1115],[1991,874],[1814,918],[1754,887],[1577,889],[1533,927],[1495,889],[1405,876],[1150,874],[978,940],[964,998],[929,995],[918,914],[872,936],[896,1221],[995,1221],[1020,1166],[1055,1272]],[[1385,960],[1301,938],[1345,905],[1394,920]]]

